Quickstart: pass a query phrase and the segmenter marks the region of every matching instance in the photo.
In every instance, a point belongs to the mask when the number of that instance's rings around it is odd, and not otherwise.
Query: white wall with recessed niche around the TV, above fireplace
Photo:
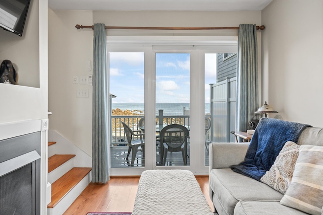
[[[47,118],[47,8],[31,1],[22,37],[0,29],[0,60],[19,75],[18,85],[0,84],[0,123]]]

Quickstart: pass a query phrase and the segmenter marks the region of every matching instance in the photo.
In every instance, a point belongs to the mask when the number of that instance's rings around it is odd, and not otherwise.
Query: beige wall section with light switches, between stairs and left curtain
[[[93,31],[77,30],[76,24],[92,25],[91,11],[52,11],[48,13],[48,107],[49,129],[91,155],[92,87],[80,84],[88,76],[87,61],[92,61]],[[73,84],[78,76],[79,84]],[[88,89],[88,98],[77,98],[77,89]]]

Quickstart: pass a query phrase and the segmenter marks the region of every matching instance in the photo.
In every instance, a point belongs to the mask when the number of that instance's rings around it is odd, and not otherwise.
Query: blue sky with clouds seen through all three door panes
[[[216,54],[205,54],[205,101],[209,83],[216,83]],[[189,53],[156,54],[156,102],[189,103]],[[110,52],[110,93],[113,103],[144,102],[144,53]]]

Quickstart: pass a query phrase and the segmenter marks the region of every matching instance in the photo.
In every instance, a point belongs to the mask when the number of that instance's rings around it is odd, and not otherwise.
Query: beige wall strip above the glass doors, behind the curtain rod
[[[239,27],[239,24],[261,24],[261,12],[199,12],[199,11],[94,11],[94,23],[105,26],[143,27]],[[114,35],[202,35],[237,36],[237,30],[117,30]]]

